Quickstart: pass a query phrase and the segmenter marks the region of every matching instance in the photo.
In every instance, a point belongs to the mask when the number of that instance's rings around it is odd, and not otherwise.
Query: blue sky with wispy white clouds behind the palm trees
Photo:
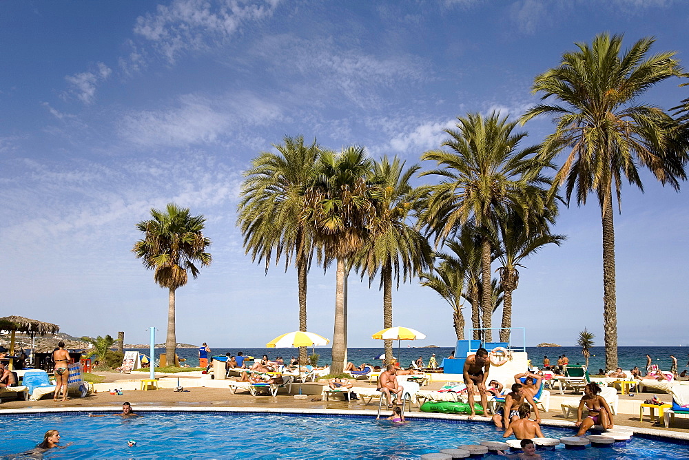
[[[130,343],[156,326],[163,341],[167,291],[131,249],[136,222],[174,201],[207,218],[214,258],[177,292],[178,341],[264,346],[298,328],[298,302],[294,269],[265,275],[235,227],[259,151],[302,134],[411,165],[457,116],[522,114],[534,76],[599,32],[656,36],[689,66],[688,25],[670,0],[1,2],[0,315]],[[679,83],[644,101],[677,105]],[[527,123],[525,145],[552,128]],[[619,344],[688,344],[687,191],[644,185],[624,186],[615,216]],[[528,345],[572,345],[584,327],[602,345],[595,200],[562,209],[555,231],[568,240],[526,261],[513,325]],[[307,300],[309,331],[330,338],[334,280],[314,266]],[[393,309],[426,333],[416,345],[454,344],[451,309],[416,280]],[[352,277],[350,346],[381,345],[380,328],[378,283]]]

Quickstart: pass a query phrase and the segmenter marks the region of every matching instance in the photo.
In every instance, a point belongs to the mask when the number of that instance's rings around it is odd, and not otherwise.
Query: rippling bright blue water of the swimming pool
[[[34,447],[48,429],[60,431],[64,449],[47,458],[254,458],[342,459],[418,458],[442,448],[502,439],[488,424],[411,419],[393,426],[371,417],[300,416],[243,413],[145,413],[136,419],[83,414],[0,417],[6,434],[0,456]],[[570,430],[544,427],[544,435]],[[134,439],[135,447],[127,440]],[[625,448],[544,452],[547,459],[689,459],[689,446],[633,438]],[[486,458],[504,458],[486,456]]]

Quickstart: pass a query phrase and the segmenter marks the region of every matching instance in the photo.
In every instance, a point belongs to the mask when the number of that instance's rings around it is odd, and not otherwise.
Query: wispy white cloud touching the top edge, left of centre
[[[278,3],[176,0],[169,6],[158,5],[156,14],[138,17],[134,32],[154,42],[156,50],[174,63],[180,54],[214,48],[243,26],[270,17]]]

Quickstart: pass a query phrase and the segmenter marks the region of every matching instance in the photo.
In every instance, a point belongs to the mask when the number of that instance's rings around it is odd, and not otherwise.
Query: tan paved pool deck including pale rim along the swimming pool
[[[236,394],[229,390],[229,380],[213,380],[205,378],[205,375],[156,375],[161,379],[161,389],[142,391],[141,379],[147,379],[147,373],[123,375],[117,373],[99,373],[105,375],[105,381],[102,384],[96,384],[98,393],[89,395],[85,398],[72,398],[68,401],[54,402],[49,397],[44,397],[39,401],[9,401],[3,400],[0,404],[0,415],[3,413],[27,413],[27,412],[53,412],[53,411],[117,411],[121,410],[121,404],[124,401],[129,401],[134,410],[187,410],[187,411],[205,411],[205,410],[232,410],[253,412],[259,410],[261,412],[296,412],[296,413],[329,413],[329,414],[350,414],[350,415],[371,415],[378,410],[378,404],[371,403],[365,405],[360,400],[354,401],[322,401],[320,400],[320,389],[322,382],[302,385],[304,393],[309,393],[307,399],[294,399],[294,395],[288,395],[285,390],[280,390],[276,397],[271,396],[251,396],[249,393],[238,392]],[[175,392],[172,390],[177,386],[177,378],[180,378],[180,384],[185,388],[184,392]],[[429,386],[424,387],[424,390],[437,390],[442,386],[442,381],[433,381]],[[367,381],[357,381],[356,386],[372,386]],[[121,388],[123,395],[111,395],[108,390],[114,388]],[[298,385],[292,387],[292,391],[298,392]],[[580,395],[578,395],[580,397]],[[660,395],[661,399],[667,400],[669,395]],[[541,418],[544,425],[572,427],[574,426],[573,418],[565,419],[560,410],[560,402],[564,399],[577,397],[575,393],[566,393],[559,395],[559,393],[551,392],[550,411],[542,413]],[[642,393],[629,397],[628,395],[620,395],[619,412],[615,415],[615,428],[627,427],[639,434],[657,435],[662,437],[671,437],[674,439],[682,439],[689,441],[689,419],[684,417],[676,417],[672,428],[663,428],[660,425],[654,425],[649,421],[648,416],[644,418],[643,422],[639,422],[639,405],[644,399],[652,397],[650,393]],[[444,418],[444,419],[458,419],[466,420],[466,415],[448,415],[448,414],[434,414],[428,412],[419,412],[417,407],[409,412],[407,406],[407,415],[423,418]],[[386,409],[384,413],[387,414]],[[648,414],[647,414],[648,415]],[[476,417],[477,420],[489,420],[486,417]],[[489,433],[486,433],[488,435]],[[491,437],[494,437],[494,431],[491,428]]]

